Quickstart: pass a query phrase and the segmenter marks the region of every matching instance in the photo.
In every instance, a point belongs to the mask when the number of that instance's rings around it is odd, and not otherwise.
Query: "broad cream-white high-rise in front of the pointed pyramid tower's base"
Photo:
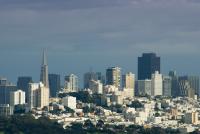
[[[30,83],[28,94],[28,106],[32,108],[43,108],[49,106],[49,88],[43,83]]]

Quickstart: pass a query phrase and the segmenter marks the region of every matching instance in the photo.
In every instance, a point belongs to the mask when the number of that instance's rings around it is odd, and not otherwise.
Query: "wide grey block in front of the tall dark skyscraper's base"
[[[152,82],[151,80],[138,80],[137,81],[137,88],[138,88],[138,94],[139,95],[152,95],[151,91],[152,91],[152,86],[151,86]]]

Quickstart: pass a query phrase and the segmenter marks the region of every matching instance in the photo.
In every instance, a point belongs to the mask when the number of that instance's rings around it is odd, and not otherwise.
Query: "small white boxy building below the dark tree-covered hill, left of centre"
[[[76,109],[76,98],[72,96],[66,96],[62,98],[62,103],[64,106],[69,107],[71,109]]]

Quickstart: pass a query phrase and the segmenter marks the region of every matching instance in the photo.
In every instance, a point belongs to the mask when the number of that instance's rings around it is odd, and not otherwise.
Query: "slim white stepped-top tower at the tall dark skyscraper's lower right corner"
[[[158,71],[152,74],[152,96],[163,95],[162,74]]]

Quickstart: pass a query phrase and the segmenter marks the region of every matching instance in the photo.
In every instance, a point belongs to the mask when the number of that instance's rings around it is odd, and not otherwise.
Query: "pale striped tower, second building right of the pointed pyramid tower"
[[[65,76],[66,92],[78,92],[78,76],[70,74]]]

